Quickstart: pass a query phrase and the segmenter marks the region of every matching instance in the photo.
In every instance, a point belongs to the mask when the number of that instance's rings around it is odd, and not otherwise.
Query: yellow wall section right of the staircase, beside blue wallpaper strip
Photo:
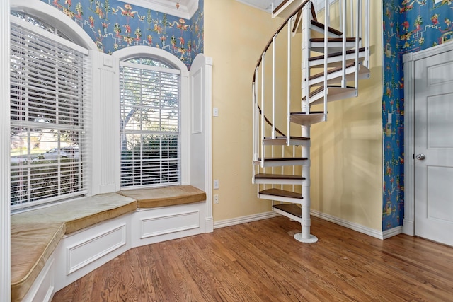
[[[382,231],[382,4],[371,2],[371,79],[311,128],[311,209]]]

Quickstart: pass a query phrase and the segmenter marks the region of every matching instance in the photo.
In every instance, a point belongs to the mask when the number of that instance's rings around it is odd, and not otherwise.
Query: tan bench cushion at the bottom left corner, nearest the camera
[[[11,224],[11,300],[21,301],[64,236],[64,223]]]

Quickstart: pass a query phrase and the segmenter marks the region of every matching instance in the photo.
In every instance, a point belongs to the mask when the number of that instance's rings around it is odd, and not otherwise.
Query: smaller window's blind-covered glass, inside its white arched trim
[[[120,62],[121,187],[180,184],[180,71],[159,59]]]

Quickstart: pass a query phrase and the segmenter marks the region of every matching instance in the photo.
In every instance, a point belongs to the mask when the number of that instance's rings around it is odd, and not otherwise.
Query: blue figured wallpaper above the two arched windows
[[[42,1],[84,28],[101,52],[149,45],[171,52],[187,66],[203,52],[203,0],[190,20],[117,0]]]

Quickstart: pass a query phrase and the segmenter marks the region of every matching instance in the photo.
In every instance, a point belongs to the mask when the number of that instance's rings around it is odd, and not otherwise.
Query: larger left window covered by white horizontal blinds
[[[86,193],[88,50],[11,16],[11,209]]]

